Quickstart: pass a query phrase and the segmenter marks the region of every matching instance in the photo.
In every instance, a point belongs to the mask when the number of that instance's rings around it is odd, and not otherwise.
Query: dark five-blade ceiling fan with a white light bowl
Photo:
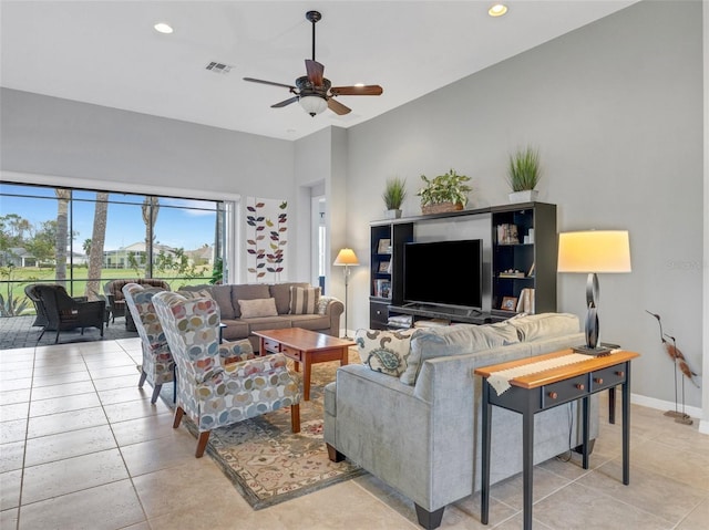
[[[325,66],[315,60],[315,24],[321,18],[322,15],[318,11],[308,11],[306,13],[306,19],[312,23],[312,59],[306,59],[307,75],[298,77],[295,86],[254,77],[244,77],[244,81],[250,81],[251,83],[282,86],[288,89],[291,94],[295,94],[288,100],[271,105],[271,108],[280,108],[291,103],[300,102],[300,106],[311,116],[320,114],[326,108],[342,115],[352,112],[352,110],[333,100],[335,96],[380,95],[383,92],[383,89],[379,85],[332,86],[330,80],[322,76]]]

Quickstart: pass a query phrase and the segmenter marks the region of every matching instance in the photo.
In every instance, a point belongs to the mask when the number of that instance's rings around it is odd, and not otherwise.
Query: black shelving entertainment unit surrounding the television
[[[491,258],[490,261],[485,259],[483,270],[490,271],[484,281],[490,282],[485,295],[491,312],[475,316],[439,312],[435,308],[418,313],[414,309],[403,308],[403,246],[414,240],[415,227],[434,219],[469,216],[490,218],[491,242],[487,245],[492,247]],[[500,228],[505,225],[506,231]],[[444,316],[451,322],[483,323],[489,320],[500,322],[521,311],[556,311],[556,205],[523,202],[372,221],[370,246],[371,329],[390,328],[390,315],[411,315],[412,323],[420,318]],[[503,304],[507,309],[503,309]]]

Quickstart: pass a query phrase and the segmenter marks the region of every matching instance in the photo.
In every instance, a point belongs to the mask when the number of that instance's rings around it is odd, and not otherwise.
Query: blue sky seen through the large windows
[[[6,195],[10,194],[10,196]],[[32,195],[17,197],[12,195]],[[73,194],[72,229],[74,251],[83,252],[84,240],[93,231],[95,191],[75,190]],[[144,196],[110,194],[104,250],[114,250],[145,240],[142,217]],[[172,248],[195,250],[214,243],[215,202],[207,200],[160,198],[155,224],[155,240]],[[208,208],[208,209],[207,209]],[[42,221],[56,219],[56,196],[53,188],[0,184],[0,216],[17,214],[37,228]]]

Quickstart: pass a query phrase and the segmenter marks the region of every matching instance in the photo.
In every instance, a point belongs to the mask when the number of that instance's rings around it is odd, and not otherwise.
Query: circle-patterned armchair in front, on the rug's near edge
[[[218,343],[219,309],[208,298],[188,300],[161,292],[153,303],[177,364],[177,407],[173,428],[183,415],[199,432],[195,456],[202,457],[213,428],[290,407],[294,433],[300,432],[300,383],[281,354],[255,357],[247,340]],[[238,358],[223,364],[224,356]]]

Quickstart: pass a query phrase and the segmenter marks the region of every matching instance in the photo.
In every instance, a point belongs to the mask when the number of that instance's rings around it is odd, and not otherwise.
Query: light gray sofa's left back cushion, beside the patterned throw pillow
[[[427,358],[463,355],[518,343],[515,328],[500,324],[458,324],[417,330],[411,337],[411,353],[401,382],[414,385]]]

